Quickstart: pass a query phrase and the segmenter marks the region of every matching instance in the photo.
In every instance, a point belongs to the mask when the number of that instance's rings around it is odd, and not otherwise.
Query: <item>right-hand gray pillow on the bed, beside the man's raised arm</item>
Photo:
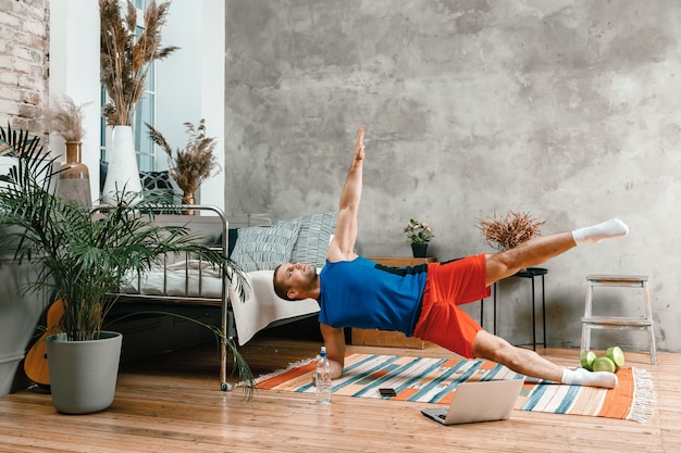
[[[290,254],[290,261],[322,267],[326,264],[329,241],[336,219],[335,211],[304,215],[287,222],[299,222],[300,232]],[[277,225],[286,224],[280,222]]]

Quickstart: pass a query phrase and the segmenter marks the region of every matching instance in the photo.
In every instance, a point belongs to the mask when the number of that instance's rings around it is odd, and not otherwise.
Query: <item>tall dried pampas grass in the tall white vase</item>
[[[137,36],[137,10],[131,0],[127,0],[125,17],[119,0],[99,0],[100,78],[110,99],[102,108],[102,115],[109,126],[132,125],[150,63],[178,49],[161,47],[161,29],[169,8],[170,1],[157,4],[151,0],[144,13],[144,29]]]

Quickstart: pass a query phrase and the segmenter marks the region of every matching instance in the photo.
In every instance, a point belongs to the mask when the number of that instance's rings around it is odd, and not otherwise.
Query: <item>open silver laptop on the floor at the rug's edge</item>
[[[459,383],[449,407],[424,408],[426,417],[443,425],[505,420],[511,416],[523,379]]]

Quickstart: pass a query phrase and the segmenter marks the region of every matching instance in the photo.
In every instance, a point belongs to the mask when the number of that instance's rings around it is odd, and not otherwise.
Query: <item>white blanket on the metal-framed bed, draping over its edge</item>
[[[140,289],[137,289],[137,278],[131,278],[131,285],[125,288],[124,292],[175,297],[187,294],[193,298],[220,299],[222,278],[218,270],[208,263],[194,260],[189,262],[188,266],[190,270],[187,273],[184,261],[170,265],[165,277],[163,270],[149,272],[140,278]],[[248,291],[248,299],[244,302],[240,301],[234,285],[228,285],[227,294],[234,311],[239,345],[245,344],[258,331],[274,322],[319,312],[319,304],[313,299],[290,302],[278,298],[272,286],[273,276],[273,270],[247,273],[246,278],[250,285],[250,290]]]

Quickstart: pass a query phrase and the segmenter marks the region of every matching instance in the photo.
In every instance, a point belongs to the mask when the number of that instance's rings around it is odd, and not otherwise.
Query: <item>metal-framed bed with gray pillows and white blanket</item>
[[[271,225],[261,216],[239,216],[230,222],[215,206],[193,209],[197,215],[158,214],[154,222],[187,225],[207,244],[227,250],[230,257],[245,272],[245,300],[240,300],[237,286],[210,264],[191,256],[169,256],[158,268],[131,276],[129,285],[117,294],[119,312],[160,310],[191,316],[195,311],[219,310],[222,334],[238,345],[247,343],[262,329],[317,316],[315,300],[289,302],[274,293],[273,269],[288,261],[321,268],[332,238],[333,211]],[[227,347],[222,342],[222,390],[231,389],[227,363]]]

